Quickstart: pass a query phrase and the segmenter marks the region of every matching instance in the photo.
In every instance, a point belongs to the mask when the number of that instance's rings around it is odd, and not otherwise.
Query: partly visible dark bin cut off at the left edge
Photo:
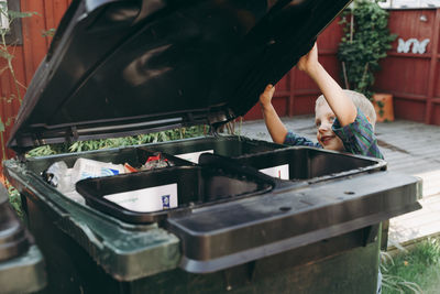
[[[46,285],[43,255],[8,199],[0,184],[0,292],[41,293]]]

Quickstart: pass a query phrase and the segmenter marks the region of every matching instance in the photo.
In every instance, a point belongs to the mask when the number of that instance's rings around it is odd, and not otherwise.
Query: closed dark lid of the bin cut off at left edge
[[[8,190],[0,183],[0,262],[25,253],[29,235],[9,204]]]

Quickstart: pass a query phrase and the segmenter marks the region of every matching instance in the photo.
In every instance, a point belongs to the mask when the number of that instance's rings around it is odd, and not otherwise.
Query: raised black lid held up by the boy
[[[350,0],[74,0],[8,145],[221,124],[244,115]]]

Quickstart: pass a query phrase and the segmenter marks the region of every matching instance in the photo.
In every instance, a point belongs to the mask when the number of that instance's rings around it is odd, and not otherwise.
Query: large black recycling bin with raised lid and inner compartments
[[[381,222],[418,209],[386,162],[218,129],[307,53],[349,3],[74,0],[38,67],[4,162],[47,264],[47,293],[374,293]],[[204,138],[28,159],[36,145],[208,124]],[[139,166],[44,175],[78,159]]]

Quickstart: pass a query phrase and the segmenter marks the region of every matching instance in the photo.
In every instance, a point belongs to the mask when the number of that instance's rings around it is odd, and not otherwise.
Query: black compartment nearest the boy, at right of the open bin
[[[312,148],[289,148],[249,154],[240,156],[238,161],[283,179],[322,181],[386,170],[386,163],[377,159]]]

